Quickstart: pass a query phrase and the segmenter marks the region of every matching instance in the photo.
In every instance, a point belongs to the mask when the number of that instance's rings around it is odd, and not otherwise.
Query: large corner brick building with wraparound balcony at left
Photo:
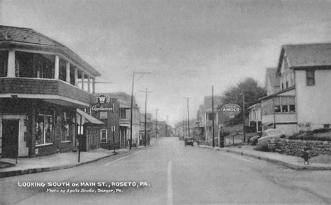
[[[0,26],[0,154],[34,157],[77,144],[77,108],[94,101],[92,66],[33,29]]]

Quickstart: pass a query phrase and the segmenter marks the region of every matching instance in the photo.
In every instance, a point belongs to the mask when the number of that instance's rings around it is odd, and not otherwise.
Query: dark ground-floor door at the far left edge
[[[18,156],[18,120],[2,120],[2,157]]]

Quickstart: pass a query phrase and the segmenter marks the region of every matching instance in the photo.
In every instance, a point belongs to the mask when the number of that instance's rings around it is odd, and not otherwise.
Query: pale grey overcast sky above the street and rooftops
[[[1,1],[1,0],[0,0]],[[196,118],[203,97],[240,80],[265,83],[281,45],[331,42],[330,1],[2,0],[2,24],[29,27],[68,46],[102,73],[97,92],[131,94],[169,122]]]

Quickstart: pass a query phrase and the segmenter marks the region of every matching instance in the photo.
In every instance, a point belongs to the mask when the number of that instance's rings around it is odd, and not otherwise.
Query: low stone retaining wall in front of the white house
[[[307,147],[309,156],[331,155],[331,141],[305,141],[292,139],[279,139],[277,149],[286,155],[301,156],[302,150]]]

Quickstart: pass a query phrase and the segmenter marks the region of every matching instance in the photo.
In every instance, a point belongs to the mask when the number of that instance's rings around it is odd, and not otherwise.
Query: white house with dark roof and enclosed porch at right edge
[[[283,45],[276,75],[280,91],[261,99],[263,129],[290,135],[330,126],[331,43]]]

